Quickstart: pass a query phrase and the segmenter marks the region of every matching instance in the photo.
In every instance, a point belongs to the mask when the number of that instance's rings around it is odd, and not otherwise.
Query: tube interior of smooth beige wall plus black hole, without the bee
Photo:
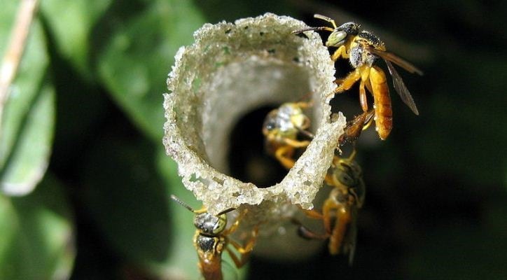
[[[284,102],[312,102],[319,96],[310,90],[308,76],[297,64],[271,59],[246,59],[216,69],[202,108],[202,144],[209,165],[260,188],[282,181],[288,170],[265,151],[263,123]],[[320,120],[320,104],[313,103],[305,113]],[[316,130],[319,121],[311,125]]]

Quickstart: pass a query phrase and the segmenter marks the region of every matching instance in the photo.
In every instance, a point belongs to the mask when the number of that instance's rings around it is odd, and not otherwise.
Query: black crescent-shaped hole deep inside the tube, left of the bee
[[[268,187],[284,179],[287,170],[268,155],[262,127],[265,116],[277,106],[263,106],[240,118],[230,134],[228,162],[230,175],[256,186]]]

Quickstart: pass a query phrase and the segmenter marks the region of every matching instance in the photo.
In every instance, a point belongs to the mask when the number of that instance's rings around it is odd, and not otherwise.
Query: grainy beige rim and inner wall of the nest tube
[[[263,221],[263,231],[296,204],[313,206],[345,118],[330,118],[326,95],[335,88],[334,66],[321,38],[314,32],[291,34],[305,27],[271,13],[206,24],[195,32],[195,43],[176,54],[167,79],[163,143],[184,186],[212,214],[243,205],[249,213],[242,225]],[[309,92],[315,136],[285,178],[258,188],[228,176],[230,133],[238,120],[263,106],[297,102]]]

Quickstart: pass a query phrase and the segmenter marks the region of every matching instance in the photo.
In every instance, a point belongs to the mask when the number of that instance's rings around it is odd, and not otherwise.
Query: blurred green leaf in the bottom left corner
[[[66,279],[72,228],[66,197],[51,179],[25,197],[0,195],[0,279]]]

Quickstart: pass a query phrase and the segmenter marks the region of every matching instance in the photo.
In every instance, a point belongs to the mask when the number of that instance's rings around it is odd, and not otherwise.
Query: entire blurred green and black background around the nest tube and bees
[[[3,54],[20,1],[0,3]],[[199,206],[163,151],[165,80],[204,22],[265,12],[356,20],[425,74],[401,71],[420,116],[392,93],[391,136],[359,143],[354,265],[323,247],[253,257],[246,279],[507,278],[506,1],[42,0],[0,130],[2,188],[38,186],[0,195],[0,279],[197,279],[192,215],[169,202]]]

